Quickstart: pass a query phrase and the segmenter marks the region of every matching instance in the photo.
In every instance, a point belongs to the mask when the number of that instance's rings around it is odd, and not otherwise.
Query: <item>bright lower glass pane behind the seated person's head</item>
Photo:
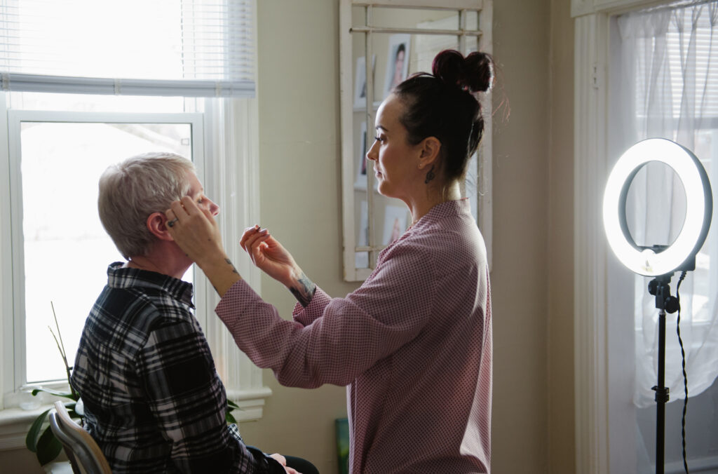
[[[23,122],[21,149],[27,381],[33,383],[65,378],[48,329],[55,328],[50,302],[71,366],[107,265],[123,260],[98,217],[101,173],[144,152],[191,158],[191,126]],[[185,279],[191,275],[190,269]]]

